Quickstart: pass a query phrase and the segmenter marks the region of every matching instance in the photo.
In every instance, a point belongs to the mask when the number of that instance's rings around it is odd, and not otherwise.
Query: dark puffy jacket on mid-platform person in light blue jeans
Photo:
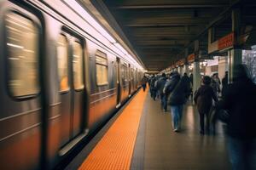
[[[184,77],[177,82],[176,87],[168,97],[168,105],[183,105],[186,102],[186,94],[188,94],[189,88],[186,84]]]

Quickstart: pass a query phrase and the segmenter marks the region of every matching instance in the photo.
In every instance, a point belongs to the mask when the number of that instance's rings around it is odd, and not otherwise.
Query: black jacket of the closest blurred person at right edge
[[[236,80],[228,85],[218,104],[230,116],[227,133],[234,138],[256,138],[256,85],[248,78]]]

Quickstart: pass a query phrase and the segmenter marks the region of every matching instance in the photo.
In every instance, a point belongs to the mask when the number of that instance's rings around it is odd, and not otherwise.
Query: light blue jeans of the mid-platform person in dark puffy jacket
[[[183,105],[171,105],[171,113],[172,113],[172,127],[174,129],[179,129],[182,116],[183,116]]]

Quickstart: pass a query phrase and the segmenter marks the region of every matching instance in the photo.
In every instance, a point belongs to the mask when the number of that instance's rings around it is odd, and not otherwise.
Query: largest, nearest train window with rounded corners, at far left
[[[15,97],[38,94],[38,27],[32,20],[6,14],[9,89]]]

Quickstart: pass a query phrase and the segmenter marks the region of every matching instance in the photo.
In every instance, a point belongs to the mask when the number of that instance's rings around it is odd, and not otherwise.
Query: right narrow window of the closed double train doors
[[[83,48],[80,42],[73,42],[73,86],[76,90],[84,88]]]

